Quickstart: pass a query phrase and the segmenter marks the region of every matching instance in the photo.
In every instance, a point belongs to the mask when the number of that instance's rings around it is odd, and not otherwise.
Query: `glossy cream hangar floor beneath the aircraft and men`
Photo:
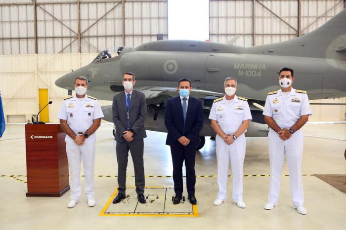
[[[95,175],[116,175],[117,164],[112,125],[97,130]],[[305,134],[303,174],[346,174],[344,151],[346,124],[309,123]],[[172,175],[165,133],[148,131],[144,146],[145,175]],[[24,125],[7,125],[0,139],[0,175],[26,175]],[[82,169],[83,170],[83,169]],[[207,138],[205,147],[196,155],[197,175],[216,175],[215,142]],[[289,174],[285,163],[283,174]],[[82,173],[83,174],[83,171]],[[229,172],[231,174],[231,172]],[[247,138],[245,175],[269,174],[267,138]],[[128,175],[134,175],[129,159]],[[18,177],[26,181],[25,177]],[[70,192],[62,197],[26,197],[27,184],[11,177],[0,177],[0,230],[60,229],[304,229],[345,230],[346,194],[314,176],[303,176],[306,216],[292,207],[289,177],[282,177],[280,204],[273,210],[263,209],[267,201],[268,177],[244,177],[246,209],[239,209],[230,198],[214,206],[216,177],[198,177],[196,197],[199,217],[118,217],[99,216],[117,188],[116,177],[95,178],[96,206],[86,205],[85,195],[73,209],[66,204]],[[83,189],[82,178],[82,189]],[[134,178],[127,185],[134,186]],[[173,187],[172,178],[146,178],[148,187]],[[229,178],[228,197],[232,183]]]

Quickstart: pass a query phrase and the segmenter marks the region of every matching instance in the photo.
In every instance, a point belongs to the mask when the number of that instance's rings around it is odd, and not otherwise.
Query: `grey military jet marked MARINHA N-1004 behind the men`
[[[200,133],[202,148],[205,136],[215,133],[208,119],[213,100],[224,95],[223,82],[228,76],[238,81],[237,95],[248,98],[253,121],[246,136],[266,136],[267,125],[261,115],[267,92],[279,88],[278,71],[295,70],[296,89],[307,90],[309,99],[346,96],[346,9],[315,31],[288,41],[240,47],[209,41],[159,40],[136,48],[116,47],[100,52],[87,66],[58,78],[55,84],[69,90],[74,79],[89,80],[88,95],[112,100],[124,90],[123,73],[136,77],[135,89],[147,99],[147,130],[167,132],[164,108],[177,96],[177,81],[192,81],[191,96],[204,106],[205,125]],[[104,120],[113,122],[111,106],[102,107]]]

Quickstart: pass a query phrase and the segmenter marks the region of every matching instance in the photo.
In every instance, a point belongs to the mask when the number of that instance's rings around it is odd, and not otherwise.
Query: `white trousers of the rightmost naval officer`
[[[279,134],[270,129],[268,133],[269,161],[270,161],[270,185],[269,202],[276,204],[279,201],[281,171],[284,164],[285,153],[290,172],[291,196],[295,206],[303,206],[304,194],[302,183],[303,160],[302,130],[292,134],[291,138],[283,141]]]

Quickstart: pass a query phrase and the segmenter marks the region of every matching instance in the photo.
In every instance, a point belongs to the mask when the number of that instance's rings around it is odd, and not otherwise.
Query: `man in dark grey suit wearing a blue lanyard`
[[[143,138],[146,137],[144,121],[147,114],[146,100],[143,93],[133,90],[136,83],[134,74],[123,75],[122,83],[125,91],[113,97],[113,121],[116,127],[118,161],[118,194],[113,203],[119,203],[126,197],[126,168],[128,166],[129,150],[132,156],[137,198],[145,203],[144,196],[144,163]]]

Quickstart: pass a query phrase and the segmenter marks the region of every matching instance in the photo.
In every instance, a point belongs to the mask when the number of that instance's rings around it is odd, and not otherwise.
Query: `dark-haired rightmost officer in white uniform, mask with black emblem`
[[[302,159],[303,132],[301,128],[312,114],[306,91],[292,88],[294,71],[283,68],[279,72],[281,89],[269,92],[264,106],[264,120],[270,127],[268,147],[270,160],[269,200],[264,209],[278,205],[281,171],[285,154],[290,172],[293,207],[300,214],[306,214],[303,207]]]

